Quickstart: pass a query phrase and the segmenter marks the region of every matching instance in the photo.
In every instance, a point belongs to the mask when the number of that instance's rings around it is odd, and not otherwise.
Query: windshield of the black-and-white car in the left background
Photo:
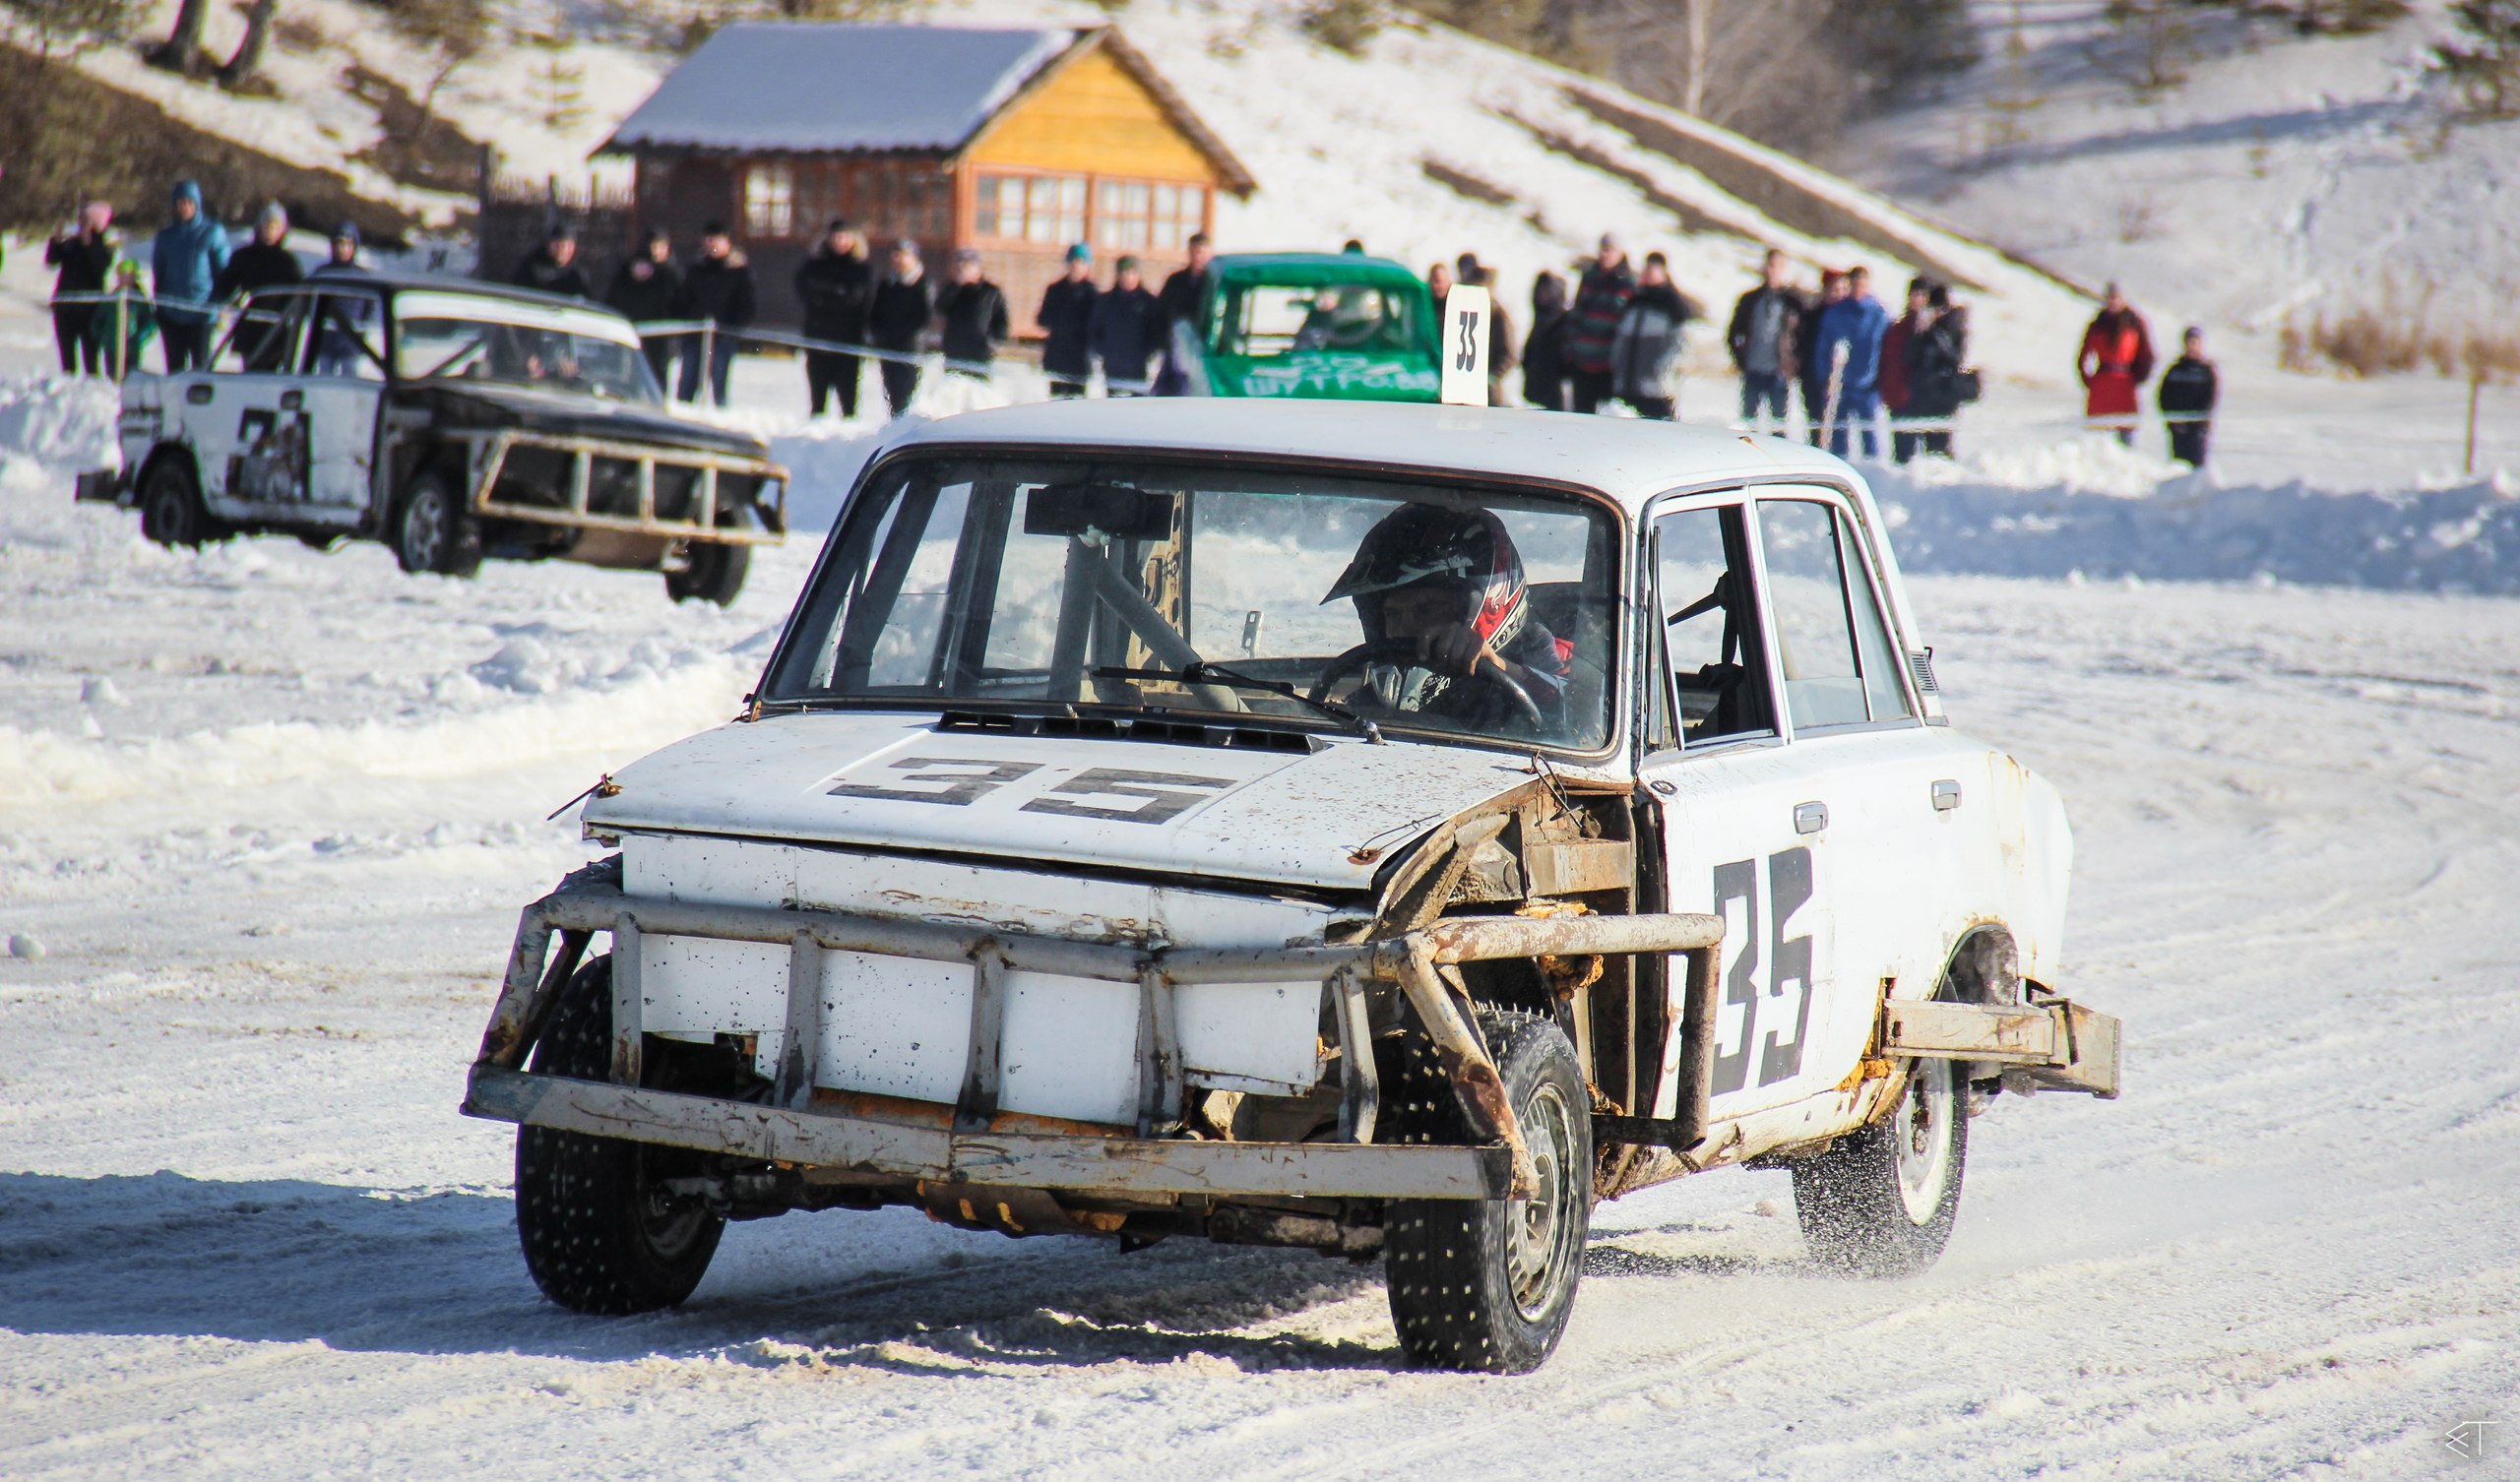
[[[393,373],[401,381],[499,381],[607,401],[663,401],[625,320],[459,292],[406,292],[396,300]]]

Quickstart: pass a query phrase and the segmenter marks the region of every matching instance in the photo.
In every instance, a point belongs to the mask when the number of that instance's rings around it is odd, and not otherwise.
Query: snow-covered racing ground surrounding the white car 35
[[[40,948],[0,958],[0,1474],[2520,1474],[2520,602],[2351,590],[2512,587],[2515,504],[2381,439],[2422,406],[2263,413],[2255,491],[2029,411],[1885,479],[1920,570],[2084,572],[1915,585],[1961,723],[2074,807],[2069,978],[2129,1091],[1981,1119],[1908,1283],[1807,1265],[1782,1175],[1608,1205],[1557,1358],[1464,1379],[1399,1369],[1373,1268],[897,1210],[736,1225],[675,1313],[542,1303],[509,1129],[454,1106],[514,910],[587,857],[544,814],[736,708],[814,542],[726,612],[169,554],[68,504],[111,401],[33,378],[33,328],[0,315],[0,933]],[[832,499],[872,426],[791,398],[748,363],[731,416]],[[2213,567],[2197,522],[2276,554]],[[2147,580],[2195,562],[2240,580]],[[2505,1454],[2460,1467],[2465,1419]]]

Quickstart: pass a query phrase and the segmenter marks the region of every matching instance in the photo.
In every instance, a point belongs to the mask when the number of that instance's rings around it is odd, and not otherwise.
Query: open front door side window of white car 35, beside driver
[[[1666,703],[1683,746],[1777,731],[1741,507],[1681,509],[1653,522],[1656,615]]]

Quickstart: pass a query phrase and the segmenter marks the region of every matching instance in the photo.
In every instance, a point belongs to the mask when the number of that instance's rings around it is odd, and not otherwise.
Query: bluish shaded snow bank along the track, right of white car
[[[2520,491],[2507,476],[2449,489],[2331,494],[2303,481],[2218,486],[2208,474],[2107,451],[1872,471],[1900,565],[2003,577],[2281,580],[2323,587],[2520,595]],[[2029,486],[2024,486],[2029,484]]]

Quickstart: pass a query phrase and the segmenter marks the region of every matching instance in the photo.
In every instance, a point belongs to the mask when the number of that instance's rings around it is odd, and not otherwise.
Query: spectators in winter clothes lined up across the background
[[[227,305],[305,272],[287,247],[290,219],[275,202],[232,247],[207,212],[202,189],[181,181],[169,219],[141,260],[123,255],[113,207],[91,202],[45,244],[55,270],[53,333],[63,373],[121,376],[139,368],[154,338],[169,373],[207,365],[212,333]],[[1363,252],[1348,242],[1348,252]],[[1187,242],[1187,262],[1149,290],[1137,257],[1119,257],[1096,280],[1094,250],[1068,247],[1063,272],[1043,290],[1028,328],[1038,330],[1041,368],[1051,396],[1086,396],[1101,378],[1106,396],[1172,396],[1187,391],[1174,358],[1174,328],[1192,320],[1207,295],[1212,247]],[[343,222],[330,260],[315,272],[360,272],[360,234]],[[1605,234],[1598,252],[1572,270],[1572,282],[1540,272],[1530,290],[1530,328],[1517,338],[1512,313],[1494,295],[1494,270],[1477,252],[1426,270],[1436,305],[1454,285],[1487,287],[1489,401],[1512,406],[1520,370],[1525,406],[1600,413],[1625,406],[1641,418],[1676,418],[1683,343],[1706,318],[1698,300],[1673,282],[1671,262],[1628,250]],[[728,401],[728,376],[743,343],[801,350],[811,416],[859,413],[864,360],[877,360],[887,411],[902,413],[935,358],[948,376],[988,378],[1013,338],[1018,307],[990,282],[980,252],[953,252],[948,280],[935,285],[915,239],[900,239],[882,267],[847,219],[832,219],[796,267],[801,335],[764,330],[753,267],[721,222],[701,232],[701,252],[675,262],[673,242],[648,232],[597,292],[580,257],[577,232],[554,224],[509,282],[539,292],[600,300],[640,328],[640,348],[658,388],[680,401]],[[1759,282],[1739,295],[1724,325],[1724,348],[1739,376],[1739,426],[1799,431],[1842,456],[1950,456],[1961,411],[1983,383],[1968,358],[1968,307],[1948,282],[1915,277],[1893,315],[1872,292],[1865,267],[1822,270],[1814,287],[1792,282],[1784,252],[1767,252]],[[2139,398],[2155,373],[2152,333],[2109,285],[2076,350],[2087,426],[2132,441]],[[2170,454],[2202,464],[2218,403],[2218,373],[2205,358],[2202,330],[2182,335],[2180,358],[2162,370],[2157,408]],[[1799,408],[1797,408],[1799,403]]]

